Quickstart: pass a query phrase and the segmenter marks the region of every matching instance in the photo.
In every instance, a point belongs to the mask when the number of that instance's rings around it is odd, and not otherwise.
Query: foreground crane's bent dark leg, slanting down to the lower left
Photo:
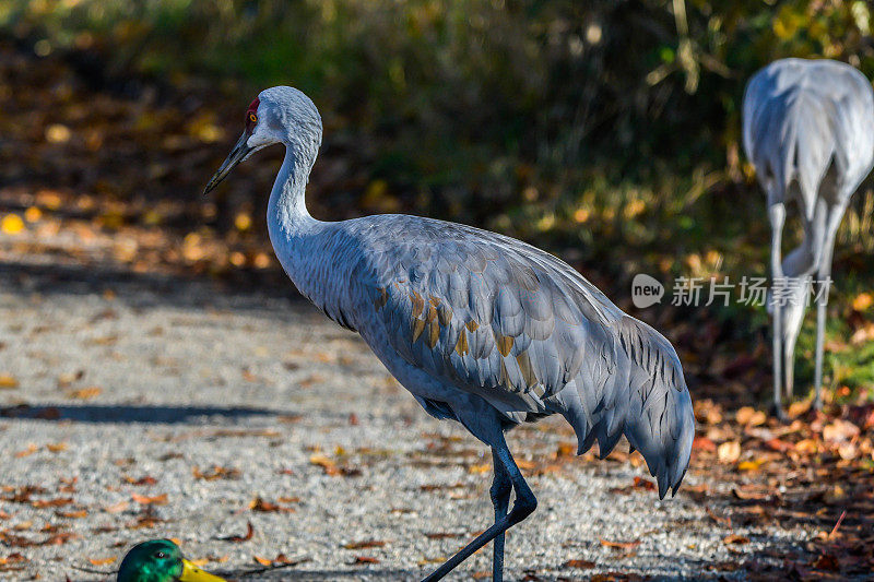
[[[528,483],[525,483],[524,477],[522,477],[522,473],[519,471],[516,461],[513,461],[512,454],[507,448],[507,443],[504,441],[503,435],[500,436],[500,442],[492,446],[492,454],[504,466],[504,470],[507,472],[507,476],[512,484],[512,488],[516,491],[516,501],[512,504],[512,509],[509,513],[497,520],[492,527],[476,536],[473,542],[461,548],[458,554],[440,565],[440,567],[432,572],[430,575],[425,578],[423,582],[435,582],[436,580],[440,580],[446,574],[451,572],[452,569],[454,569],[459,563],[463,562],[471,555],[473,555],[474,551],[485,546],[520,521],[528,518],[538,508],[538,499],[534,497],[534,494],[531,491]]]

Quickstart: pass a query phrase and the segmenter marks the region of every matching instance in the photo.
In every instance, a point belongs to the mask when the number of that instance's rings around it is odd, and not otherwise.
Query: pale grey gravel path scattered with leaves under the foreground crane
[[[237,579],[418,580],[491,523],[486,449],[308,304],[5,259],[0,375],[19,385],[0,389],[0,562],[26,561],[4,580],[106,580],[82,569],[153,537]],[[510,436],[540,507],[508,535],[508,580],[745,578],[737,563],[812,535],[730,530],[711,516],[727,484],[705,503],[693,473],[660,502],[634,486],[639,458],[570,459],[572,442],[558,419]],[[281,554],[300,561],[246,574]],[[452,579],[489,565],[481,551]]]

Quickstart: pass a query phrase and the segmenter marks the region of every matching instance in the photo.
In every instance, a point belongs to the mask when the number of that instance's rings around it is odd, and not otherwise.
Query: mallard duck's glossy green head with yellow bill
[[[118,582],[218,582],[182,558],[182,550],[169,539],[152,539],[131,548],[118,568]]]

